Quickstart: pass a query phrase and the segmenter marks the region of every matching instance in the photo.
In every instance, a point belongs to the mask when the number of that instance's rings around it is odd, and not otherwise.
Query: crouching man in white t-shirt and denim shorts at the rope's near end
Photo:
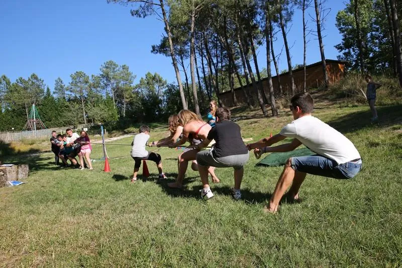
[[[265,206],[267,212],[278,210],[286,189],[288,198],[298,199],[298,191],[306,174],[314,174],[338,179],[352,178],[361,169],[360,154],[353,143],[337,130],[313,117],[313,98],[309,93],[299,93],[290,100],[290,111],[294,121],[285,125],[279,134],[264,138],[247,145],[249,150],[255,149],[256,156],[265,152],[287,152],[304,144],[316,155],[290,157],[287,159],[275,190]],[[286,137],[294,138],[292,142],[274,146]]]

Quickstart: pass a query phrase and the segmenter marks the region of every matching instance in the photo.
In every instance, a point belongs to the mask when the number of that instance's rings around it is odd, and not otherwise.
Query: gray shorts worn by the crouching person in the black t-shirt
[[[240,169],[247,163],[249,157],[250,155],[247,153],[215,158],[212,154],[212,150],[205,150],[197,153],[196,160],[198,165],[202,166],[233,167],[234,169]]]

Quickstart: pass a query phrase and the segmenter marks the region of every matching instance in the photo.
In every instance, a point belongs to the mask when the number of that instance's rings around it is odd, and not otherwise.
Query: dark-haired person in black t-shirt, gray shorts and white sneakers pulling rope
[[[230,121],[230,110],[218,108],[215,113],[216,125],[208,133],[207,139],[194,146],[200,150],[207,147],[215,140],[215,146],[211,150],[200,151],[196,155],[198,163],[198,172],[203,182],[204,189],[201,190],[201,196],[208,200],[214,196],[208,182],[208,167],[233,167],[235,177],[235,188],[232,189],[234,199],[241,199],[240,185],[242,183],[244,168],[243,166],[249,159],[249,152],[243,142],[240,127]]]

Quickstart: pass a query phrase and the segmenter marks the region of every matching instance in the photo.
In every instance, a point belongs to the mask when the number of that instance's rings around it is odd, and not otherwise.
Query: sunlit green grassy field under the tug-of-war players
[[[282,167],[257,167],[250,157],[241,201],[230,197],[233,169],[217,169],[215,197],[200,199],[197,172],[188,170],[185,189],[156,181],[131,183],[129,146],[108,146],[112,172],[59,169],[49,152],[14,156],[29,163],[27,184],[0,189],[0,265],[56,267],[262,267],[402,265],[402,105],[378,107],[379,125],[367,106],[341,107],[318,101],[315,116],[354,142],[363,169],[352,180],[308,175],[299,203],[262,210]],[[290,112],[263,118],[235,109],[244,138],[277,133]],[[151,139],[166,132],[151,132]],[[130,138],[114,143],[131,142]],[[102,156],[93,146],[92,158]],[[173,181],[178,150],[162,155]],[[141,169],[140,169],[141,173]]]

